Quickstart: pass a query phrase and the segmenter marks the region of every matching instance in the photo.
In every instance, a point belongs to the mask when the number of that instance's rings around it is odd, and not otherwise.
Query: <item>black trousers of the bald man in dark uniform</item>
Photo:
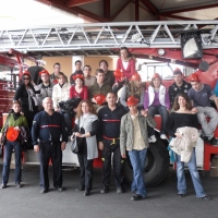
[[[39,145],[40,161],[40,186],[49,189],[48,164],[51,158],[53,168],[53,186],[62,186],[62,150],[61,143],[51,145],[50,143],[40,143]]]

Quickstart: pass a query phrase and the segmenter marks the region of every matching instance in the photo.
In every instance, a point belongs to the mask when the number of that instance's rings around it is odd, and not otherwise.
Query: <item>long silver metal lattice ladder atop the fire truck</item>
[[[218,21],[158,21],[92,23],[23,28],[0,27],[0,52],[10,48],[20,51],[51,51],[69,55],[113,55],[112,49],[180,48],[181,32],[201,31],[203,49],[218,48]],[[92,51],[92,52],[90,52]]]

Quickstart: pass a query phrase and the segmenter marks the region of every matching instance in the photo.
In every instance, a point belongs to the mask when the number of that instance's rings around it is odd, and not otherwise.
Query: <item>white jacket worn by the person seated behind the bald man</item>
[[[59,108],[59,102],[63,100],[69,100],[70,98],[70,88],[71,85],[65,83],[62,87],[59,84],[53,86],[52,90],[52,100],[53,100],[53,108]]]

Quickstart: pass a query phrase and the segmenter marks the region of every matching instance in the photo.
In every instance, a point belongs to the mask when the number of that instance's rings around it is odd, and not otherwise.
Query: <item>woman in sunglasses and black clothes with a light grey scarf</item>
[[[29,129],[32,128],[34,116],[38,112],[38,100],[36,94],[39,93],[40,90],[32,81],[29,72],[25,71],[21,77],[20,86],[15,92],[14,101],[21,101],[21,111],[26,117]]]

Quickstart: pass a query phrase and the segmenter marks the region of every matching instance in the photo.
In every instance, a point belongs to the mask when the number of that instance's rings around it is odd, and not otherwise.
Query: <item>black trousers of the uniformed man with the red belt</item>
[[[111,154],[113,153],[113,175],[116,186],[122,186],[124,173],[123,173],[123,159],[120,153],[120,141],[116,141],[114,145],[111,145],[111,140],[104,140],[104,150],[101,153],[102,158],[102,184],[110,184],[111,177]]]

